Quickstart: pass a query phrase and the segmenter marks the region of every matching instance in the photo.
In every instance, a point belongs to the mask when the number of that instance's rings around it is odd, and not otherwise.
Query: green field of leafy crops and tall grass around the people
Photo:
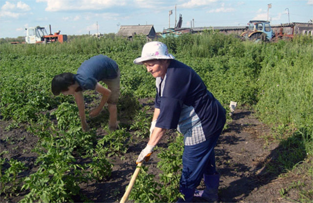
[[[305,173],[312,177],[312,38],[297,36],[293,41],[253,43],[223,34],[202,33],[177,38],[170,36],[160,41],[168,45],[169,52],[177,60],[191,66],[201,76],[227,111],[229,101],[237,101],[238,108],[253,109],[260,121],[271,126],[272,137],[264,139],[286,144],[289,149],[288,153],[281,155],[281,161],[277,161],[281,171],[288,175],[296,167],[309,166]],[[9,122],[6,130],[23,128],[39,139],[33,149],[38,154],[35,162],[38,169],[23,179],[17,179],[26,170],[23,162],[8,160],[4,158],[6,152],[0,152],[1,197],[27,191],[22,202],[73,201],[73,196],[80,194],[81,183],[91,179],[101,181],[110,176],[112,163],[109,157],[123,157],[128,149],[125,140],[131,138],[130,133],[149,137],[151,114],[142,110],[137,100],[155,96],[155,81],[143,67],[133,63],[140,56],[145,42],[144,37],[128,41],[112,36],[101,39],[85,36],[63,44],[0,44],[1,122]],[[101,139],[97,137],[96,129],[107,130],[106,122],[97,123],[87,133],[82,132],[73,98],[55,97],[50,89],[55,75],[76,73],[83,61],[97,54],[107,55],[119,64],[121,99],[118,109],[123,112],[119,119],[127,117],[132,121],[131,124],[120,123],[119,130],[108,131],[108,135]],[[92,103],[96,96],[88,93],[85,99]],[[133,116],[129,118],[127,112],[132,112]],[[6,131],[1,133],[5,135]],[[179,143],[181,140],[174,142],[168,153],[181,151]],[[162,162],[169,162],[166,153],[160,154]],[[287,156],[289,160],[291,157],[291,160],[310,161],[303,166],[285,162]],[[77,163],[77,157],[90,162]],[[176,165],[162,170],[173,176],[171,180],[161,178],[163,185],[170,184],[159,191],[159,196],[148,197],[148,192],[142,195],[142,191],[134,188],[131,199],[135,202],[145,198],[151,202],[175,202],[178,193],[171,196],[165,193],[178,186],[179,159],[170,162]],[[145,178],[146,183],[151,179],[148,174]],[[312,189],[304,192],[300,188],[298,192],[303,194],[300,202],[312,199]]]

